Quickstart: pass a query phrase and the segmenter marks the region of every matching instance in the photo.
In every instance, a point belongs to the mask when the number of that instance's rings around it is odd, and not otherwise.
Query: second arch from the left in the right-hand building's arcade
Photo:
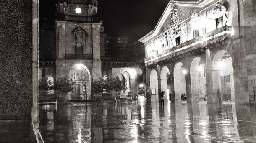
[[[169,69],[164,66],[161,70],[161,92],[165,91],[164,100],[170,100],[169,93],[170,93],[170,71]]]

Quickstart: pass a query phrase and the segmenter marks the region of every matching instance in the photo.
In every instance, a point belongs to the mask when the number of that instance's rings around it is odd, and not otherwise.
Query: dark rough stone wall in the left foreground
[[[0,7],[0,142],[35,143],[32,64],[37,62],[32,59],[32,0],[3,1]]]

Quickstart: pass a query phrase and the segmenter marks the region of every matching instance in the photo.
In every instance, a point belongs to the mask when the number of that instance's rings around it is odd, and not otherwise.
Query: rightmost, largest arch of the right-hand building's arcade
[[[222,100],[235,101],[232,63],[232,57],[225,50],[218,51],[212,60],[213,87],[216,92],[222,91]]]

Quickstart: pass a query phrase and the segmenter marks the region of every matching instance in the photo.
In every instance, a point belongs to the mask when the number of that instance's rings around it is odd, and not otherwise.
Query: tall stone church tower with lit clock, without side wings
[[[98,1],[59,0],[56,8],[56,79],[75,81],[68,99],[77,100],[80,95],[92,95],[93,80],[101,78],[104,28],[97,16]]]

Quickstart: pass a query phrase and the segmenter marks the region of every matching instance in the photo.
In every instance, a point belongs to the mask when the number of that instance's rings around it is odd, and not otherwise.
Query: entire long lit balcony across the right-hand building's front
[[[230,44],[232,26],[223,26],[214,31],[206,33],[204,37],[197,37],[190,41],[181,43],[171,49],[163,51],[145,59],[145,66],[150,68],[164,65],[172,61],[184,59],[187,56],[204,53],[208,49],[220,49]]]

